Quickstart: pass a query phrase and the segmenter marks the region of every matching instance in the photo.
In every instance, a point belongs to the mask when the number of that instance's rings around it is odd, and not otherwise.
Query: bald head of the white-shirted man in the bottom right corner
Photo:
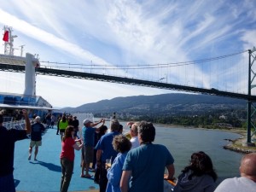
[[[241,159],[241,177],[247,177],[256,182],[256,153],[246,154]]]

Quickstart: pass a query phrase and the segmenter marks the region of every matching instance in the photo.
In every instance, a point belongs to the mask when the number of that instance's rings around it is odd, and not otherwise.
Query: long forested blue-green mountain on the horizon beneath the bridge
[[[156,96],[126,96],[81,105],[77,108],[61,108],[67,113],[130,113],[142,115],[178,114],[195,115],[214,110],[245,110],[247,101],[210,95],[172,93]]]

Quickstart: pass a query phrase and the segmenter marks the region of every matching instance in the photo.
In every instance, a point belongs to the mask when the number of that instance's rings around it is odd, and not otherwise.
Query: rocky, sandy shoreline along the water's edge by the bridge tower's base
[[[241,154],[250,154],[256,153],[256,147],[245,146],[247,143],[247,131],[246,130],[237,130],[237,129],[207,129],[202,127],[193,127],[193,126],[183,126],[183,125],[166,125],[166,124],[157,124],[169,128],[183,128],[183,129],[202,129],[202,130],[212,130],[212,131],[227,131],[232,133],[237,133],[241,137],[238,137],[234,140],[226,138],[225,140],[230,141],[227,145],[224,145],[224,149],[235,151]],[[255,144],[255,143],[254,143]]]

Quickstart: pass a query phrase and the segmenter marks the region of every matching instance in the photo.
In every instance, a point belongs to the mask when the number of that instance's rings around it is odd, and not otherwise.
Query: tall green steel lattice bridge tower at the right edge
[[[248,69],[248,96],[251,96],[251,90],[256,87],[256,72],[253,68],[253,62],[256,60],[256,49],[249,49],[249,69]],[[253,84],[254,83],[254,84]],[[253,117],[256,117],[256,101],[247,101],[247,145],[253,146],[252,137],[256,133],[256,125],[253,124]],[[253,134],[251,134],[252,126],[254,128]]]

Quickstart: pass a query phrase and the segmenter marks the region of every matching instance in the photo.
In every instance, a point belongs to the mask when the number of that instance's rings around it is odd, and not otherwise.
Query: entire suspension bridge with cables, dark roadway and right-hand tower
[[[256,49],[215,58],[164,64],[119,65],[40,61],[37,75],[148,86],[247,100],[247,143],[255,134]],[[0,55],[0,71],[25,73],[26,58]],[[139,77],[139,78],[138,78]],[[255,131],[251,133],[252,127]]]

